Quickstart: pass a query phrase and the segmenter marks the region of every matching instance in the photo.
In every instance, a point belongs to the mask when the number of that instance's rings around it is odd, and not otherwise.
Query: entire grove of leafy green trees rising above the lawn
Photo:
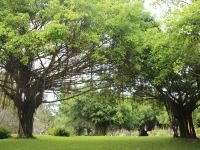
[[[196,138],[200,1],[168,6],[160,22],[140,0],[1,0],[1,102],[17,109],[18,136],[32,137],[37,108],[57,101],[77,135],[82,127],[147,135],[159,124],[156,101],[175,137]],[[55,101],[44,99],[47,90]]]

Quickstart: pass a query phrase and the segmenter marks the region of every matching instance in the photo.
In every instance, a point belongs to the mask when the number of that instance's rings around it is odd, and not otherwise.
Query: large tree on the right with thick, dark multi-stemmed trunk
[[[151,30],[147,40],[152,43],[144,51],[146,78],[155,87],[173,123],[178,124],[180,136],[188,138],[196,138],[192,112],[200,99],[199,6],[199,2],[194,2],[176,10],[164,32]]]

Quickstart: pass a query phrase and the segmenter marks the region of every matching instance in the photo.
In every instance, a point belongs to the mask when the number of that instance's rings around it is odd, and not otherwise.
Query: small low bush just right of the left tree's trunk
[[[54,136],[70,136],[69,131],[65,130],[64,128],[50,128],[48,129],[48,134]]]

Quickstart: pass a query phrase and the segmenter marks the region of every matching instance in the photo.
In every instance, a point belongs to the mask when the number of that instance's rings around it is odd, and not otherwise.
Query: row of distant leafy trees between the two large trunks
[[[106,135],[125,129],[144,136],[155,126],[169,127],[164,110],[157,105],[120,100],[105,91],[71,99],[59,107],[58,118],[65,120],[65,128],[72,126],[76,135]]]

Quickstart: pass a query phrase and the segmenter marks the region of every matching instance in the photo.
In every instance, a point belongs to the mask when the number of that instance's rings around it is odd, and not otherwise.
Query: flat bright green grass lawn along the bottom
[[[171,137],[52,137],[0,140],[0,150],[200,150],[200,142]]]

